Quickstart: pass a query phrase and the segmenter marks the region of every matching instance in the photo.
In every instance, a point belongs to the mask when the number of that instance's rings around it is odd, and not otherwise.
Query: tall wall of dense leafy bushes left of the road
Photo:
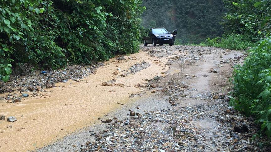
[[[138,51],[141,0],[0,0],[0,79]]]

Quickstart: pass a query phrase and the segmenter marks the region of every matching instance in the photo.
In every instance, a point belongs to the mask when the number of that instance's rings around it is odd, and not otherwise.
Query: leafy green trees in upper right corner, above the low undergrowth
[[[226,34],[237,33],[257,42],[271,32],[270,0],[224,0],[227,10],[222,25]]]

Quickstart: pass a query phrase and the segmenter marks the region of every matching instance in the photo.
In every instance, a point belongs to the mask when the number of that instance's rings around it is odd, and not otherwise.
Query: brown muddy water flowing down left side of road
[[[93,124],[98,117],[119,108],[121,105],[117,103],[132,102],[130,94],[142,91],[138,86],[146,80],[164,75],[161,73],[169,70],[168,58],[151,57],[145,52],[125,56],[120,62],[113,58],[78,83],[58,83],[56,88],[47,89],[46,98],[26,99],[20,104],[0,103],[0,115],[17,118],[16,122],[1,124],[0,151],[34,150]],[[121,76],[143,61],[150,66]],[[109,86],[101,85],[103,82]]]

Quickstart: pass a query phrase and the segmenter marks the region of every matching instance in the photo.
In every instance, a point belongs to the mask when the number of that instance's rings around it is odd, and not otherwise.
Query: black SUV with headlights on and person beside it
[[[169,46],[173,46],[176,34],[177,30],[174,30],[173,33],[169,33],[165,28],[150,28],[148,36],[143,38],[143,43],[144,46],[148,44],[152,44],[153,46],[156,46],[156,44],[160,46],[169,44]]]

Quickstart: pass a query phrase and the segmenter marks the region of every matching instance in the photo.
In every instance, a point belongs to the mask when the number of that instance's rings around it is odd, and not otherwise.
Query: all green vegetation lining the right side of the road
[[[223,38],[207,39],[210,46],[245,49],[248,51],[243,65],[235,68],[234,98],[231,105],[255,117],[261,132],[271,136],[271,1],[224,1],[228,12],[223,26]],[[260,41],[259,41],[260,40]]]

